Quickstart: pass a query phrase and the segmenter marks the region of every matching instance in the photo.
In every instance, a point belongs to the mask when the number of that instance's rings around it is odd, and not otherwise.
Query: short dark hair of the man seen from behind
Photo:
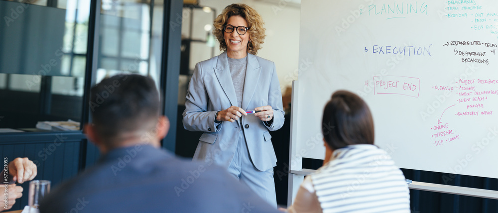
[[[91,89],[89,104],[96,133],[109,143],[121,133],[154,128],[160,115],[154,80],[136,74],[102,80]]]

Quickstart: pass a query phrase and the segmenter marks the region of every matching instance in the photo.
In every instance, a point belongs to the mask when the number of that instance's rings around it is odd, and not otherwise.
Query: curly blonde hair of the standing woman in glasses
[[[227,24],[228,19],[234,15],[239,15],[248,22],[248,33],[250,38],[248,52],[256,55],[257,51],[261,49],[261,44],[264,43],[264,30],[266,29],[263,27],[264,22],[261,15],[259,15],[256,10],[243,3],[228,5],[214,21],[215,29],[213,30],[213,35],[215,35],[218,42],[220,42],[220,50],[227,50],[223,26]]]

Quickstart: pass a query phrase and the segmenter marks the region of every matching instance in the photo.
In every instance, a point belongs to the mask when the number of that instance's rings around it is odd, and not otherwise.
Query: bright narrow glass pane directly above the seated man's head
[[[96,83],[135,73],[151,76],[158,86],[162,20],[162,0],[102,0]]]

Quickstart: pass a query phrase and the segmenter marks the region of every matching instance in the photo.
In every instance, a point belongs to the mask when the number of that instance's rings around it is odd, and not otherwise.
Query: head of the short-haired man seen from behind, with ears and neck
[[[92,123],[85,132],[103,153],[139,143],[158,147],[169,122],[160,115],[154,81],[140,75],[116,75],[90,91]]]

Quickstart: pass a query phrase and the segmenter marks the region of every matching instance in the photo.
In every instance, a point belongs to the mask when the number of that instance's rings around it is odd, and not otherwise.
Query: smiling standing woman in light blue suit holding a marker
[[[263,21],[238,3],[227,6],[214,26],[225,52],[196,64],[183,112],[185,129],[204,132],[194,160],[226,167],[276,208],[269,131],[282,127],[284,111],[275,64],[255,56],[265,36]]]

